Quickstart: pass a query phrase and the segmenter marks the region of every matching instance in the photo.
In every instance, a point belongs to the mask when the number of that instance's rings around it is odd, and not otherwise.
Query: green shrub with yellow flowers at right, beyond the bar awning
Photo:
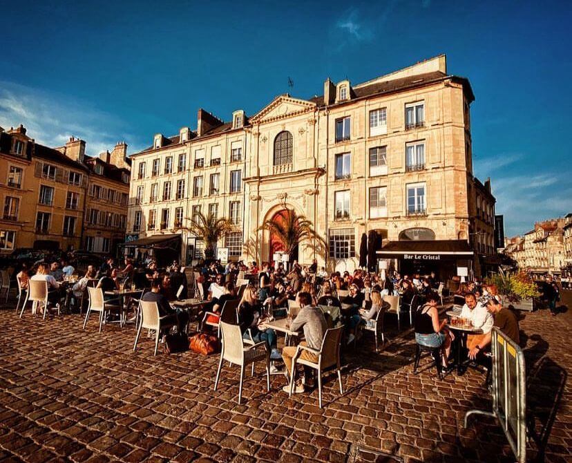
[[[496,285],[503,302],[517,310],[532,312],[534,299],[540,296],[536,283],[524,272],[504,272],[499,268],[499,273],[487,278],[486,283]]]

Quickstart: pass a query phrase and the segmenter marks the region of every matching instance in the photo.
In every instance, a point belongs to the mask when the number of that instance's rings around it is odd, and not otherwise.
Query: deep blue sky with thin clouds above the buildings
[[[0,126],[94,155],[229,120],[325,77],[363,82],[446,53],[468,77],[475,173],[507,234],[572,211],[572,2],[3,2]],[[6,21],[5,21],[6,22]]]

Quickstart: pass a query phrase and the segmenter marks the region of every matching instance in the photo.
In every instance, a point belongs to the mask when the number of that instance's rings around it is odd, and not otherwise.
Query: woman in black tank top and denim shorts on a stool
[[[445,329],[446,320],[439,321],[439,295],[432,292],[426,297],[425,305],[419,308],[415,316],[415,341],[420,346],[441,348],[441,360],[444,368],[448,368],[447,359],[451,351],[452,333]]]

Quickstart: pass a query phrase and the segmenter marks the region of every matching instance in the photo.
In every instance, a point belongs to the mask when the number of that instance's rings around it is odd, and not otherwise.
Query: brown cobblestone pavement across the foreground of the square
[[[530,413],[541,443],[548,427],[550,462],[572,461],[571,319],[541,310],[521,321]],[[0,325],[1,461],[513,461],[494,420],[474,417],[464,428],[467,410],[490,409],[484,374],[414,376],[410,333],[379,354],[370,339],[348,352],[345,394],[327,377],[321,410],[317,391],[289,399],[281,376],[267,393],[261,367],[247,376],[239,406],[236,368],[225,366],[215,392],[218,356],[153,357],[146,337],[133,353],[133,325],[100,334],[95,316],[82,331],[77,315],[18,319],[7,307]],[[537,448],[531,442],[529,454]]]

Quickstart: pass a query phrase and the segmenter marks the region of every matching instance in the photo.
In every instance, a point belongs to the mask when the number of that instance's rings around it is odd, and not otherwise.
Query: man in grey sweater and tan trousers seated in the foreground
[[[311,294],[307,292],[300,292],[298,293],[296,300],[298,301],[298,305],[300,305],[301,309],[294,321],[292,321],[292,324],[289,326],[289,330],[297,331],[300,328],[303,328],[306,341],[302,341],[301,345],[320,350],[322,348],[324,334],[327,330],[327,323],[325,321],[324,314],[319,308],[312,307],[312,305],[310,305],[312,303]],[[296,347],[285,346],[285,348],[283,348],[282,358],[286,366],[287,375],[292,373],[294,355],[296,355]],[[312,362],[318,361],[318,356],[308,352],[307,350],[302,351],[300,358]],[[296,372],[294,372],[294,375],[296,375]],[[296,377],[294,377],[294,380],[295,379]],[[286,393],[289,393],[290,386],[284,386],[283,390]],[[304,385],[302,383],[296,383],[296,386],[294,387],[294,393],[298,394],[303,392]]]

